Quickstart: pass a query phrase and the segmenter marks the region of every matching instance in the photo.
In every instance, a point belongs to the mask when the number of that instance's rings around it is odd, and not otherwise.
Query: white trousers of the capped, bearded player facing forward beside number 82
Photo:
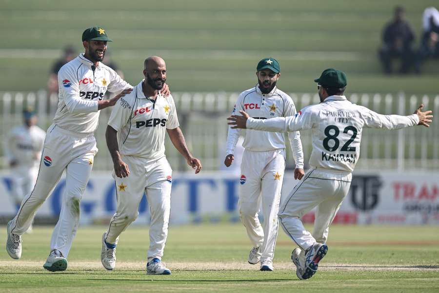
[[[253,246],[261,246],[261,260],[272,261],[274,257],[284,171],[285,149],[244,150],[239,185],[239,216]],[[261,204],[263,226],[258,218]]]

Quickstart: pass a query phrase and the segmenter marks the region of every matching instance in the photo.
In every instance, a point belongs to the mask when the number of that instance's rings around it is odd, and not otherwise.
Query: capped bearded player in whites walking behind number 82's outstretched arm
[[[233,113],[247,111],[255,119],[287,117],[296,114],[293,100],[277,88],[280,66],[274,58],[264,58],[257,65],[258,84],[242,92]],[[227,156],[224,164],[229,167],[240,134],[239,129],[229,128]],[[295,178],[301,178],[303,152],[299,131],[288,134],[294,161]],[[239,214],[247,235],[253,244],[248,256],[250,264],[260,261],[261,271],[273,271],[273,257],[278,234],[280,192],[285,171],[285,136],[283,133],[247,130],[242,146],[245,148],[241,163],[239,186]],[[263,226],[258,211],[262,206]]]

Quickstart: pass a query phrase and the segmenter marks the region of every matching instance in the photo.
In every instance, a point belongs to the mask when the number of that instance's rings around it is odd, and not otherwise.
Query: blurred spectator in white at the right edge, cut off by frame
[[[428,7],[422,14],[422,39],[415,63],[415,71],[420,73],[421,65],[428,58],[439,58],[439,11]]]

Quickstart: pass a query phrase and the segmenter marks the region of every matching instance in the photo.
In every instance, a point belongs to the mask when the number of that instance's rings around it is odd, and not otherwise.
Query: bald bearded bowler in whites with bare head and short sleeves
[[[166,160],[166,132],[189,166],[200,172],[200,160],[187,149],[171,95],[159,93],[166,81],[166,64],[160,57],[145,60],[142,80],[120,99],[108,121],[107,146],[114,163],[117,211],[102,235],[101,262],[105,269],[116,266],[119,235],[137,218],[146,192],[151,211],[147,274],[170,274],[161,262],[168,235],[171,209],[172,169]]]

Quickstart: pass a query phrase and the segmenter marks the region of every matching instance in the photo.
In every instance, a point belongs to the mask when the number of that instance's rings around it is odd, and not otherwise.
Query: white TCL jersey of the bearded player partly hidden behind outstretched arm
[[[259,89],[259,84],[243,91],[239,95],[232,114],[239,115],[239,110],[243,110],[247,112],[250,117],[260,120],[274,117],[287,117],[296,114],[296,107],[290,96],[279,90],[276,86],[268,94],[263,94]],[[239,134],[240,129],[232,129],[229,127],[227,133],[227,155],[234,153]],[[290,140],[291,149],[293,150],[296,167],[303,168],[303,152],[299,131],[288,133],[288,138]],[[285,135],[284,133],[247,129],[242,146],[251,151],[268,151],[285,148]]]

